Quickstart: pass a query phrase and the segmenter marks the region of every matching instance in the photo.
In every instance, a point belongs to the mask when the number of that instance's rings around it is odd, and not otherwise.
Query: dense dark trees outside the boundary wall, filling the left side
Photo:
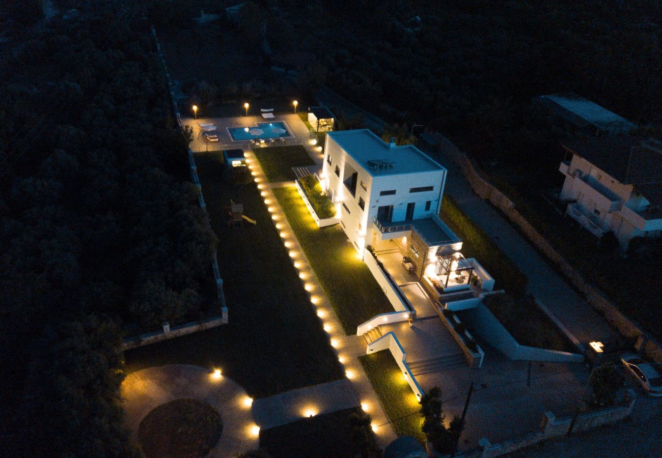
[[[140,10],[54,6],[0,44],[2,435],[11,456],[125,457],[120,325],[215,306],[216,238]]]

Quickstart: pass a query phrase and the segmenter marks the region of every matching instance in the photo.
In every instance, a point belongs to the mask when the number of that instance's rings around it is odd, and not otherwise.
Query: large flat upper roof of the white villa
[[[369,129],[336,130],[327,134],[373,177],[445,170],[413,145],[389,145]]]

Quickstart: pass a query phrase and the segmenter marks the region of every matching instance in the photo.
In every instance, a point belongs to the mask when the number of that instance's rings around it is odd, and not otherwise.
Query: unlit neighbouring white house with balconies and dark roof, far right
[[[662,144],[628,136],[586,138],[563,145],[561,199],[566,214],[598,237],[616,234],[623,248],[634,237],[662,234]]]

